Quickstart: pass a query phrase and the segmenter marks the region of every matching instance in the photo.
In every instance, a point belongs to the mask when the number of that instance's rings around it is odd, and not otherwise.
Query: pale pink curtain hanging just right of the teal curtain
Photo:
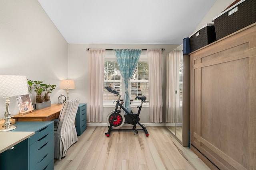
[[[148,50],[149,114],[150,121],[162,122],[162,50]]]

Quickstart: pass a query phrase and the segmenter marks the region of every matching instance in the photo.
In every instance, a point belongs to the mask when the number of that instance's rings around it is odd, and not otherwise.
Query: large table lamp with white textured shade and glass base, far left
[[[4,126],[0,127],[0,131],[11,131],[16,126],[10,125],[10,98],[12,96],[20,96],[28,94],[28,82],[26,76],[16,75],[0,75],[0,97],[6,98],[6,111],[4,113]]]

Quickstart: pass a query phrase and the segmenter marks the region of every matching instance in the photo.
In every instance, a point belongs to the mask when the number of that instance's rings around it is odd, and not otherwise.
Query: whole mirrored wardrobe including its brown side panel
[[[190,147],[190,56],[183,45],[166,55],[166,128]]]

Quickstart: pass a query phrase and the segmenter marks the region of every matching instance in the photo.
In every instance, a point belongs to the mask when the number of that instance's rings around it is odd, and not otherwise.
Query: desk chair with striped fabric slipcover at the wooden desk
[[[80,98],[64,102],[56,127],[54,127],[54,158],[61,160],[68,148],[78,141],[75,127]]]

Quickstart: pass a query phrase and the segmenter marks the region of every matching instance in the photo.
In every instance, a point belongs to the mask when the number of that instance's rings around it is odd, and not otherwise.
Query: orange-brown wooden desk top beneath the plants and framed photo
[[[26,115],[14,115],[16,121],[51,121],[57,119],[60,115],[62,104],[52,104],[44,109],[33,110]]]

